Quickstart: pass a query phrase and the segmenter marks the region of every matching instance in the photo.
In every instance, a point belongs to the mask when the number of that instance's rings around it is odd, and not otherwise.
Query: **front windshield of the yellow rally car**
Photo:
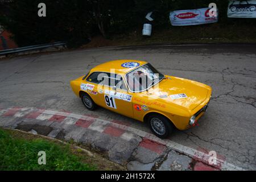
[[[126,81],[132,92],[142,92],[149,89],[163,78],[164,75],[152,67],[151,64],[145,64],[126,74]]]

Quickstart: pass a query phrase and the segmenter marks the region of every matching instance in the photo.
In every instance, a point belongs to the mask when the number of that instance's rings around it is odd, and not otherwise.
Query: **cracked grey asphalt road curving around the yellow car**
[[[116,59],[147,60],[166,75],[212,86],[213,98],[199,126],[175,131],[170,140],[216,151],[229,163],[256,169],[256,45],[110,47],[0,60],[0,107],[38,107],[146,125],[106,109],[88,111],[69,81]]]

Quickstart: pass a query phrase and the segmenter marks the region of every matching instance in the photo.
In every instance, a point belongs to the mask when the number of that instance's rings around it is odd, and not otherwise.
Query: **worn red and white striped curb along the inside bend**
[[[120,137],[125,140],[131,140],[135,135],[142,138],[140,146],[147,148],[148,150],[154,151],[161,154],[166,147],[171,150],[175,150],[181,154],[187,155],[198,162],[202,162],[209,165],[209,154],[205,152],[195,150],[194,148],[183,146],[179,143],[173,142],[169,139],[160,139],[153,134],[147,133],[130,127],[127,123],[122,121],[107,121],[104,119],[97,118],[96,115],[80,115],[73,114],[67,111],[54,111],[54,110],[44,110],[37,109],[34,107],[10,107],[8,109],[0,108],[0,117],[14,117],[14,118],[30,118],[39,121],[51,121],[51,122],[65,122],[66,125],[76,125],[84,127],[93,131],[100,133],[105,133],[113,137]],[[0,121],[0,126],[2,123]],[[243,170],[243,168],[235,166],[226,162],[223,159],[217,158],[217,165],[214,168],[220,170]]]

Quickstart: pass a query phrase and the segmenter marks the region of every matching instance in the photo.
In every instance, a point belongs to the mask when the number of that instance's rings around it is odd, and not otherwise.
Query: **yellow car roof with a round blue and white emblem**
[[[125,63],[138,63],[138,65],[135,67],[132,67],[132,68],[127,68],[126,67],[127,64],[125,64]],[[147,64],[147,62],[139,61],[139,60],[113,60],[113,61],[108,61],[106,63],[97,65],[96,67],[91,69],[91,72],[108,72],[108,73],[110,73],[110,72],[113,72],[112,69],[114,69],[115,74],[125,75],[127,72],[130,72],[133,69],[138,68],[143,64]]]

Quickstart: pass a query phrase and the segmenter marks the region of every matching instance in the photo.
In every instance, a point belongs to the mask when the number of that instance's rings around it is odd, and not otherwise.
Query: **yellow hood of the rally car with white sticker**
[[[207,98],[210,87],[200,82],[187,80],[184,78],[170,77],[155,85],[159,88],[150,89],[149,94],[158,97],[172,104],[193,110]],[[176,94],[185,94],[184,98],[179,98]],[[174,98],[174,97],[177,98]],[[184,96],[184,95],[183,95]]]

